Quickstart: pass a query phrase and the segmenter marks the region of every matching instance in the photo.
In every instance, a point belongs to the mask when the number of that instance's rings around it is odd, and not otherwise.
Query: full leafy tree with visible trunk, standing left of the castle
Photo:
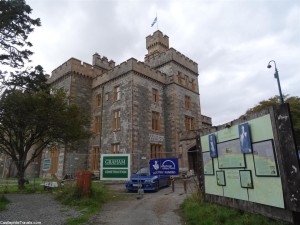
[[[50,90],[42,71],[38,67],[13,77],[0,98],[0,152],[14,161],[19,189],[24,188],[26,168],[43,149],[89,136],[87,114],[71,103],[64,90]]]

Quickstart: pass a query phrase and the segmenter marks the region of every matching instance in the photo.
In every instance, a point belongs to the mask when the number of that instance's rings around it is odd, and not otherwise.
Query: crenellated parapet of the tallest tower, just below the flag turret
[[[181,66],[191,70],[195,74],[198,74],[198,64],[174,48],[170,48],[168,51],[160,54],[157,53],[145,56],[145,64],[152,68],[157,68],[172,61],[175,61]]]

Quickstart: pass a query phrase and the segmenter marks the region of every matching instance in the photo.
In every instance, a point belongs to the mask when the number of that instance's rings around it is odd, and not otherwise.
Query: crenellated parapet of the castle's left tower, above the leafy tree
[[[70,72],[75,72],[90,78],[94,78],[99,69],[94,68],[91,64],[81,62],[78,59],[70,58],[68,61],[57,67],[52,71],[48,82],[53,83],[55,80],[61,78]]]

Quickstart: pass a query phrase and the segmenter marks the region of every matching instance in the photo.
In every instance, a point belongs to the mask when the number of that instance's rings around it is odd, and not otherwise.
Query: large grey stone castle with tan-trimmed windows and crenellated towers
[[[195,168],[195,135],[211,126],[200,111],[198,64],[170,48],[159,30],[146,37],[146,48],[144,62],[115,65],[96,53],[92,65],[71,58],[52,72],[49,82],[91,116],[93,134],[79,145],[45,150],[48,174],[99,174],[102,153],[130,153],[132,171],[161,157],[179,158],[181,170]]]

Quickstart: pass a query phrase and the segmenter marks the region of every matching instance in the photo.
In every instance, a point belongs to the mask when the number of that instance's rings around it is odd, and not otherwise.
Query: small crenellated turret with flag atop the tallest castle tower
[[[148,54],[145,58],[148,58],[153,54],[166,52],[169,49],[169,37],[167,35],[163,35],[161,31],[157,30],[153,33],[153,35],[146,37],[146,48],[148,50]]]

